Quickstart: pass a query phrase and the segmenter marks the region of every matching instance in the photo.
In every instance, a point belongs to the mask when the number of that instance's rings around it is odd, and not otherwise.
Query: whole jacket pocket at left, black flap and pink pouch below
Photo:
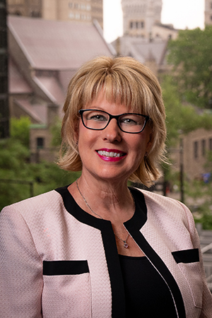
[[[90,318],[90,294],[87,261],[43,261],[44,318]]]

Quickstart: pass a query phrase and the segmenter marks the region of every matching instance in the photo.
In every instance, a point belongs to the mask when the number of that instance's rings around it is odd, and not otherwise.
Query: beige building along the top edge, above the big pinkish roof
[[[103,28],[102,0],[7,0],[9,14],[90,23]]]

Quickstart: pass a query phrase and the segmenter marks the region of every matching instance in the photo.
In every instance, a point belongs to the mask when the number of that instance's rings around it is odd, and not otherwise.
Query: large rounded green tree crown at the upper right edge
[[[212,26],[181,30],[168,45],[179,93],[193,105],[212,107]]]

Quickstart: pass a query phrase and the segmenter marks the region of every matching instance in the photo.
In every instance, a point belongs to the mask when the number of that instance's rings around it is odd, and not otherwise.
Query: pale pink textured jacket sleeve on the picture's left
[[[42,317],[42,261],[16,205],[0,213],[1,317]]]

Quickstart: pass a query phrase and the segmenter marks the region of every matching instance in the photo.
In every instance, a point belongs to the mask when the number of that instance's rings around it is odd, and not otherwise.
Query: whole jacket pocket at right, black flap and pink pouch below
[[[199,263],[199,249],[184,249],[182,251],[172,252],[172,256],[189,285],[194,306],[201,308],[203,282]]]

